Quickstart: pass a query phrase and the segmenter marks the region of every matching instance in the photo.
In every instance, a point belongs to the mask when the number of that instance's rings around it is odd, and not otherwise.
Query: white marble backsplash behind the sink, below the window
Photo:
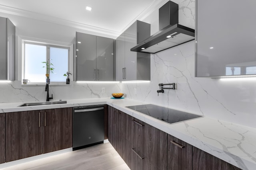
[[[102,93],[105,88],[105,93]],[[46,101],[45,86],[21,85],[20,81],[0,81],[0,103]],[[67,86],[49,86],[53,100],[112,97],[121,92],[120,82],[70,82]]]

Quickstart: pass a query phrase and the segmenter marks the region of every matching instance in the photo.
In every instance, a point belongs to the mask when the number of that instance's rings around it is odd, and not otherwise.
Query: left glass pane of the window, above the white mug
[[[30,82],[46,82],[46,46],[25,44],[24,78]]]

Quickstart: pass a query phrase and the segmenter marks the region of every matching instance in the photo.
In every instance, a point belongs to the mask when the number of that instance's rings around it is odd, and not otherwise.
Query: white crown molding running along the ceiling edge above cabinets
[[[132,20],[120,32],[109,30],[109,29],[104,29],[102,27],[95,27],[95,26],[92,26],[92,25],[84,24],[84,23],[65,20],[65,19],[62,19],[62,18],[56,18],[54,16],[48,16],[48,15],[40,14],[40,13],[37,13],[37,12],[31,12],[31,11],[28,11],[28,10],[22,10],[22,9],[19,9],[19,8],[4,6],[4,5],[0,5],[0,13],[5,13],[5,14],[15,15],[15,16],[21,16],[21,17],[25,17],[25,18],[34,19],[34,20],[46,21],[46,22],[50,22],[50,23],[54,23],[54,24],[64,25],[64,26],[68,26],[68,27],[74,27],[74,28],[77,28],[77,29],[92,31],[92,32],[101,33],[101,34],[106,34],[106,35],[110,35],[112,37],[118,37],[122,32],[124,32],[136,20],[143,20],[148,15],[150,15],[150,13],[152,13],[154,10],[158,9],[160,6],[162,6],[167,1],[168,0],[154,0],[152,3],[150,3],[148,8],[146,8],[144,11],[142,11],[136,18],[134,18],[134,20]]]

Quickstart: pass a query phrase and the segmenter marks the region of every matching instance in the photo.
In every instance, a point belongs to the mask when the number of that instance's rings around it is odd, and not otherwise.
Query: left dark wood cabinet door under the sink
[[[6,113],[6,162],[42,154],[40,111]]]

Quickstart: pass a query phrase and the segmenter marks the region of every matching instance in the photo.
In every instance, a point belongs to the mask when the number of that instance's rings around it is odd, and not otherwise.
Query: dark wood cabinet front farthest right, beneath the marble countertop
[[[241,170],[240,168],[196,147],[193,147],[192,158],[193,170]]]

